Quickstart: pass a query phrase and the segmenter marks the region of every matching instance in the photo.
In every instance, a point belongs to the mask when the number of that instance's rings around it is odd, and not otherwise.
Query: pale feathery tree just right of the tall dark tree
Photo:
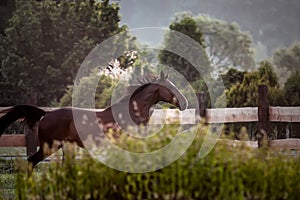
[[[213,70],[224,72],[230,67],[253,69],[255,66],[252,38],[236,23],[200,15],[195,18],[202,31],[206,53]]]

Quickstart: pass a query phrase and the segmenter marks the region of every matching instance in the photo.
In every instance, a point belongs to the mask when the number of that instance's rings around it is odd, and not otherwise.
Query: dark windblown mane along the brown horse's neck
[[[157,83],[160,79],[157,76],[147,74],[141,79],[137,79],[138,84],[128,86],[126,91],[123,94],[123,97],[120,99],[118,103],[124,103],[128,101],[132,96],[135,96],[137,93],[142,91],[145,87],[150,85],[151,83]]]

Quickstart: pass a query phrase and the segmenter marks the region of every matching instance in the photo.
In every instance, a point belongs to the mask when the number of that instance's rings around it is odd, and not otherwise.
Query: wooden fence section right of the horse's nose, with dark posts
[[[300,122],[300,107],[272,107],[268,102],[268,88],[266,85],[258,87],[258,106],[248,108],[215,108],[206,109],[204,93],[198,94],[199,115],[206,118],[206,123],[235,123],[257,122],[258,132],[265,134],[258,138],[258,146],[263,139],[268,139],[270,122]],[[269,147],[278,149],[300,150],[300,139],[276,139],[267,141]]]

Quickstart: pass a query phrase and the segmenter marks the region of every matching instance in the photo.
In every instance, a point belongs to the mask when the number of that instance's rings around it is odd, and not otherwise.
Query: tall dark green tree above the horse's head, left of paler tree
[[[162,50],[159,53],[160,63],[180,72],[190,82],[196,81],[200,79],[201,76],[209,74],[211,70],[204,51],[202,32],[192,16],[188,14],[177,15],[169,28],[188,36],[195,43],[198,43],[201,46],[201,51],[199,52],[199,49],[195,45],[190,45],[191,43],[186,41],[187,38],[180,37],[177,33],[170,32],[164,39],[166,49],[177,50],[178,52],[188,52],[189,58],[183,58],[182,55]],[[181,45],[179,46],[178,44]],[[182,46],[184,46],[185,49],[182,49]],[[195,66],[187,59],[192,59],[195,62],[193,64],[201,69],[202,74],[200,74]]]

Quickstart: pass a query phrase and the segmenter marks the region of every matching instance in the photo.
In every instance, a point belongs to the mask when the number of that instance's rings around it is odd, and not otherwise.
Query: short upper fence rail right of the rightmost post
[[[272,122],[300,122],[300,107],[269,107]]]

